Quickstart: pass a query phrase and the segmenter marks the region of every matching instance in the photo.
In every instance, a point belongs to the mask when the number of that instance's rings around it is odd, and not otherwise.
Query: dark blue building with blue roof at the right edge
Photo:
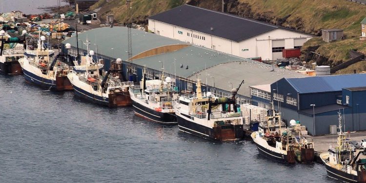
[[[312,135],[366,130],[366,74],[281,79],[271,84],[274,105],[289,125],[300,121]]]

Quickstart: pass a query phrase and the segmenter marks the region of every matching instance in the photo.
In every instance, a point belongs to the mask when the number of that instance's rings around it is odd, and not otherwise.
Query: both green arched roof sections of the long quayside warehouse
[[[95,50],[96,46],[93,43],[98,44],[98,52],[107,57],[121,58],[123,61],[128,59],[127,51],[127,28],[126,27],[102,27],[85,31],[78,35],[79,40],[86,40],[86,37],[91,41],[91,49]],[[70,43],[76,47],[76,36],[63,41],[62,43]],[[132,29],[132,52],[133,56],[138,55],[144,51],[172,44],[185,44],[188,43],[173,40],[156,34],[147,33],[137,29]],[[86,46],[81,46],[79,41],[79,48],[85,49]],[[111,48],[114,48],[113,50]],[[97,52],[96,52],[97,53]],[[142,59],[133,60],[134,64],[146,65],[147,68],[161,70],[162,63],[166,73],[174,74],[177,76],[187,78],[193,75],[194,72],[203,70],[206,67],[211,67],[216,64],[230,62],[230,61],[244,61],[244,59],[213,51],[211,49],[203,48],[200,46],[189,45],[185,48],[174,52],[162,53]],[[175,62],[175,65],[174,65]],[[180,67],[181,63],[183,68]],[[185,69],[188,65],[188,69]],[[175,67],[175,70],[174,70]]]

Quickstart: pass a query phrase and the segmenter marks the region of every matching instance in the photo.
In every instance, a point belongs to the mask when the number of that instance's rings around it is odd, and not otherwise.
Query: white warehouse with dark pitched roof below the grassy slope
[[[313,35],[261,21],[184,4],[148,17],[155,34],[241,58],[276,60]]]

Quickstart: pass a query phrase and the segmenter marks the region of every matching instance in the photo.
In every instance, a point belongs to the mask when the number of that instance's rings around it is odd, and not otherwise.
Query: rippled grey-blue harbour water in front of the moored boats
[[[0,75],[0,183],[333,183],[322,164],[286,165],[252,142],[214,143]]]

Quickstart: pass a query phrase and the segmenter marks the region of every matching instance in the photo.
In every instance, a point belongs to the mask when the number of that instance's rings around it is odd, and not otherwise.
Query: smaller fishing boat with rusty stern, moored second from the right
[[[301,137],[300,125],[292,123],[285,127],[281,114],[272,112],[266,122],[260,122],[258,131],[250,136],[256,144],[258,152],[269,158],[284,163],[304,162],[314,160],[314,143],[310,138]],[[294,135],[299,133],[299,138]]]

